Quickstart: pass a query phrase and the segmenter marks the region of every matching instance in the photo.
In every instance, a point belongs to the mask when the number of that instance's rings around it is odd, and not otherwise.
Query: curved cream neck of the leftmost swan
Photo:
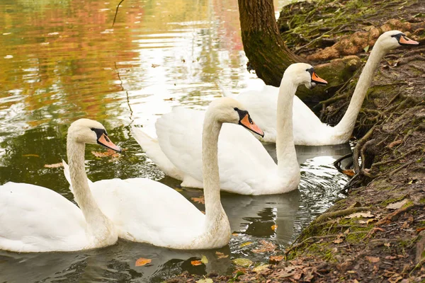
[[[69,174],[71,175],[71,183],[74,188],[74,199],[79,205],[86,219],[87,228],[94,236],[103,229],[104,226],[111,226],[111,222],[104,216],[99,209],[94,196],[91,194],[89,183],[87,181],[86,169],[84,166],[84,150],[86,146],[83,143],[67,140],[67,157],[69,162]],[[108,229],[106,229],[108,231]]]

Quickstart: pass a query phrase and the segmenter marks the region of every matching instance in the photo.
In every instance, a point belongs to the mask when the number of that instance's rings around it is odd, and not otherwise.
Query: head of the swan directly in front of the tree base
[[[327,81],[317,76],[310,64],[295,63],[286,68],[283,77],[290,77],[295,86],[305,85],[306,88],[314,88],[318,84],[327,84]]]

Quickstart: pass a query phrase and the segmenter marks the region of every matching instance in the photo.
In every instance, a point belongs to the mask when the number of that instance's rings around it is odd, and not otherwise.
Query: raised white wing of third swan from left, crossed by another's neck
[[[157,120],[164,154],[187,175],[203,180],[202,126],[205,112],[179,108]],[[261,142],[239,125],[224,124],[218,141],[220,187],[239,194],[256,194],[264,176],[276,163]]]

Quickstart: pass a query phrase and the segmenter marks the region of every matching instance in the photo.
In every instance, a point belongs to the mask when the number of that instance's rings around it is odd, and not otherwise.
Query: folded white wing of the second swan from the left
[[[154,180],[100,180],[91,191],[121,238],[174,246],[202,231],[205,215],[179,192]]]

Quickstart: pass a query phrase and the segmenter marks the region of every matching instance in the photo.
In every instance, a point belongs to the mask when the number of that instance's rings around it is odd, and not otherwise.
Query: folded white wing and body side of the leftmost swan
[[[0,186],[0,248],[20,252],[79,250],[87,245],[81,210],[38,185]]]

